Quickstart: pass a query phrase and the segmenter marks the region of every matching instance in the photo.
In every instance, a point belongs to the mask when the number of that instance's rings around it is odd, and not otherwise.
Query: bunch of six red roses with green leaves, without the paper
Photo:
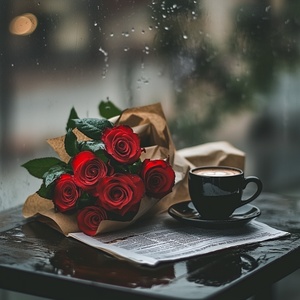
[[[121,113],[111,102],[101,107],[102,116]],[[42,179],[37,196],[51,200],[55,213],[75,218],[80,231],[96,235],[105,220],[130,221],[142,199],[151,207],[171,193],[175,172],[169,157],[143,159],[147,148],[130,126],[104,117],[80,119],[73,108],[66,130],[63,159],[38,158],[23,167]]]

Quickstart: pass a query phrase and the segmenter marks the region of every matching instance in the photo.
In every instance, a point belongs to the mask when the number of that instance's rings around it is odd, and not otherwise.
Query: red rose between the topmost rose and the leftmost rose
[[[82,151],[71,162],[75,183],[84,191],[93,192],[99,178],[106,176],[107,166],[93,152]]]

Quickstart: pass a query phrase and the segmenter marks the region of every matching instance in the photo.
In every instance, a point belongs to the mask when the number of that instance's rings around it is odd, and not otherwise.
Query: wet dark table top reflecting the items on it
[[[156,267],[113,258],[21,207],[0,213],[0,288],[51,299],[243,299],[300,265],[300,199],[262,194],[258,221],[290,236]]]

